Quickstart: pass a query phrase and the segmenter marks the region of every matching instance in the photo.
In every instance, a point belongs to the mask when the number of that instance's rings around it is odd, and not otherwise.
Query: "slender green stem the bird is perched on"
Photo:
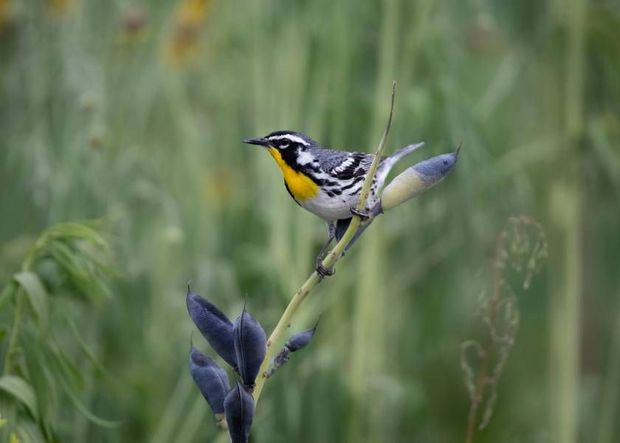
[[[392,96],[390,103],[390,113],[388,116],[388,121],[385,126],[385,130],[383,131],[383,136],[381,137],[381,141],[379,142],[379,146],[377,147],[377,151],[375,153],[375,158],[373,159],[368,173],[366,174],[366,179],[364,180],[364,184],[362,186],[362,191],[360,192],[360,198],[357,201],[357,206],[355,207],[357,211],[365,211],[366,203],[368,200],[368,196],[370,194],[370,188],[372,182],[375,178],[375,174],[377,173],[377,167],[379,166],[379,162],[381,161],[381,155],[383,154],[383,150],[385,148],[385,143],[387,141],[388,134],[390,132],[390,128],[392,126],[392,115],[394,112],[394,97],[396,94],[396,82],[392,83]],[[366,223],[370,223],[372,220],[368,220]],[[354,235],[357,233],[358,228],[362,223],[362,219],[354,215],[351,219],[351,223],[349,224],[348,229],[340,239],[340,241],[334,246],[334,248],[327,254],[327,256],[321,262],[321,265],[325,269],[332,269],[338,260],[342,257],[342,253],[345,248],[349,244],[349,242],[353,239]],[[259,376],[256,380],[256,386],[254,387],[254,402],[258,403],[258,399],[260,398],[261,392],[263,391],[263,387],[265,386],[265,382],[267,381],[267,373],[269,370],[269,365],[271,364],[271,359],[275,353],[276,345],[282,341],[282,336],[284,332],[291,326],[291,320],[301,303],[305,300],[305,298],[310,294],[310,291],[314,289],[316,285],[318,285],[323,277],[316,271],[314,271],[310,277],[305,281],[303,285],[295,292],[293,298],[289,302],[288,306],[284,310],[284,313],[280,317],[278,324],[274,328],[273,332],[269,336],[269,340],[267,340],[267,352],[265,354],[265,359],[261,364],[259,370]]]

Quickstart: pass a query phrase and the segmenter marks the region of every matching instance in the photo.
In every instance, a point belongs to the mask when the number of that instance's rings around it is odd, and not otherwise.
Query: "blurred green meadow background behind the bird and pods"
[[[548,259],[514,286],[475,441],[618,441],[620,5],[594,0],[0,0],[0,439],[225,441],[187,370],[185,284],[270,331],[325,236],[241,140],[371,151],[392,80],[388,150],[462,142],[459,163],[313,292],[293,329],[321,315],[317,336],[251,441],[465,441],[461,344],[488,340],[479,300],[523,213]]]

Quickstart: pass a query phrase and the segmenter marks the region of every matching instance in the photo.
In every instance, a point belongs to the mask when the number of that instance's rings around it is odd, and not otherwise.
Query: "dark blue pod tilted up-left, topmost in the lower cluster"
[[[237,370],[233,324],[215,305],[187,287],[187,312],[204,338],[226,363]]]

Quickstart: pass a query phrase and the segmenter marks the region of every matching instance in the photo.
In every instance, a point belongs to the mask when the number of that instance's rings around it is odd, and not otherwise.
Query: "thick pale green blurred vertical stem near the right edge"
[[[565,150],[566,168],[549,186],[549,208],[553,225],[550,256],[555,257],[552,270],[551,303],[551,440],[575,443],[579,424],[579,365],[581,304],[583,293],[582,233],[583,184],[579,162],[583,137],[585,17],[587,0],[570,0],[552,4],[556,26],[566,30],[564,57],[558,70],[565,73],[560,90],[562,137],[558,143]],[[557,51],[557,48],[553,48]]]

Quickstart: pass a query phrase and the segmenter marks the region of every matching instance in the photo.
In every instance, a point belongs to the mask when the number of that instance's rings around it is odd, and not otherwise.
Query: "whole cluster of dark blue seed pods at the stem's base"
[[[254,418],[254,390],[267,349],[267,337],[260,323],[245,307],[234,322],[215,305],[187,288],[187,311],[211,348],[230,365],[239,379],[231,388],[226,371],[193,345],[190,373],[218,423],[226,425],[232,443],[248,441]],[[272,375],[289,354],[310,343],[315,328],[292,336],[275,357],[265,376]]]

